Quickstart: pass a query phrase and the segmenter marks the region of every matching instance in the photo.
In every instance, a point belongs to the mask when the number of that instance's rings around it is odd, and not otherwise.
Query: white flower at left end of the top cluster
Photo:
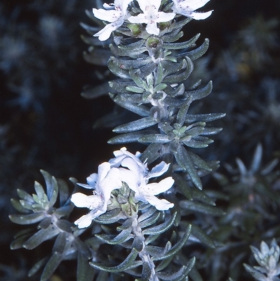
[[[106,25],[104,29],[94,34],[94,36],[99,36],[100,41],[105,41],[109,39],[111,33],[118,29],[118,27],[123,25],[125,18],[127,17],[127,7],[132,0],[115,0],[114,4],[104,4],[104,9],[93,8],[92,12],[94,13],[95,18],[99,20],[105,20],[106,22],[111,22],[109,25]]]

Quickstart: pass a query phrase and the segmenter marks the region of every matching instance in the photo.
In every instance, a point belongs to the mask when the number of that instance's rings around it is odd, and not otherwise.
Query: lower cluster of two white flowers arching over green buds
[[[92,219],[106,212],[111,192],[120,189],[123,182],[135,192],[136,200],[148,202],[160,211],[174,206],[173,203],[155,196],[172,187],[174,184],[172,177],[162,179],[158,183],[148,184],[149,179],[167,172],[169,164],[162,161],[149,171],[146,163],[142,163],[139,159],[141,155],[139,152],[134,155],[123,148],[115,151],[114,155],[116,158],[99,165],[98,174],[91,174],[90,177],[87,177],[87,184],[78,184],[86,189],[94,189],[92,196],[86,196],[83,193],[74,193],[71,196],[71,201],[76,207],[90,209],[88,214],[75,221],[79,228],[90,226]]]

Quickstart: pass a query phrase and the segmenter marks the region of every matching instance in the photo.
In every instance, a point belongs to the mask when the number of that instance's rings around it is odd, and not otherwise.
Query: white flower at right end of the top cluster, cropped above
[[[198,8],[201,8],[210,0],[172,0],[174,5],[172,6],[172,10],[175,13],[179,13],[181,15],[185,15],[188,18],[193,18],[195,20],[204,20],[208,18],[213,11],[209,11],[206,13],[195,12]]]

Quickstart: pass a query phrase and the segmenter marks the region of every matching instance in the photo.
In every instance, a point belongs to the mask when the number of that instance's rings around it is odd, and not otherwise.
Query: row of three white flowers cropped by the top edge
[[[105,20],[106,22],[111,22],[106,25],[102,30],[94,34],[98,36],[100,41],[105,41],[109,39],[111,33],[121,27],[123,22],[127,20],[132,23],[146,24],[146,32],[148,34],[158,35],[160,29],[157,26],[159,22],[169,22],[173,20],[176,14],[184,15],[188,18],[193,18],[195,20],[204,20],[211,15],[212,11],[207,13],[197,13],[195,10],[201,8],[210,0],[172,0],[173,13],[165,13],[159,11],[161,0],[137,0],[142,13],[138,15],[131,15],[127,10],[128,6],[131,4],[132,0],[115,0],[114,4],[104,4],[104,9],[93,8],[95,18],[99,20]]]

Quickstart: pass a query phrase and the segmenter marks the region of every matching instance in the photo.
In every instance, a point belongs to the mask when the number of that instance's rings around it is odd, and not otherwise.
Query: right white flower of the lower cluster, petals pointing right
[[[121,165],[120,167],[120,179],[125,181],[127,186],[135,192],[135,198],[144,202],[148,202],[155,206],[158,210],[168,210],[174,207],[173,203],[165,199],[158,199],[155,195],[167,191],[174,184],[172,177],[162,179],[159,183],[148,184],[148,180],[152,177],[159,177],[167,172],[169,164],[162,161],[160,164],[153,167],[151,172],[148,171],[147,165],[139,160],[137,153],[135,156],[126,151],[125,148],[120,151],[115,151],[116,158],[110,160],[112,165]]]

